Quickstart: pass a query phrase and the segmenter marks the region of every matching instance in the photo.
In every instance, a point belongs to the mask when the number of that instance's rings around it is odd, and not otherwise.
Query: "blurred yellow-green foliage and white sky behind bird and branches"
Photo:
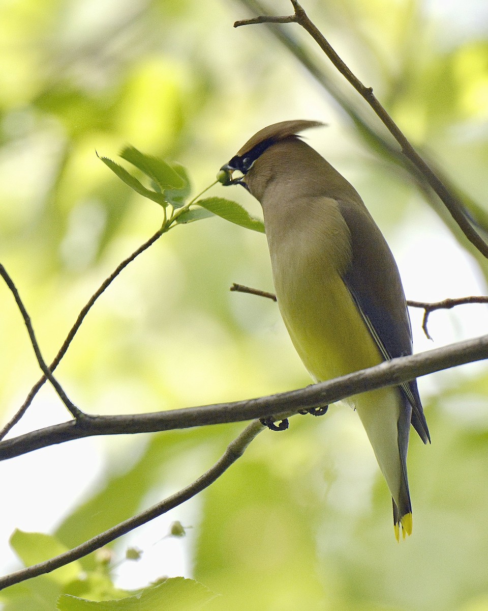
[[[270,4],[291,12],[285,0]],[[485,221],[486,2],[303,5]],[[115,158],[130,143],[179,161],[196,193],[249,136],[284,119],[329,124],[307,140],[362,194],[397,257],[407,298],[486,293],[486,262],[445,224],[442,208],[371,146],[264,26],[232,28],[249,15],[239,1],[0,6],[0,260],[46,359],[102,280],[162,222],[156,203],[130,191],[95,150]],[[384,135],[315,43],[289,27]],[[244,189],[219,185],[212,193],[260,213]],[[309,384],[276,305],[229,293],[232,282],[272,290],[263,235],[221,219],[172,230],[99,299],[58,379],[93,414],[183,408]],[[7,420],[39,371],[4,285],[0,300]],[[412,312],[417,351],[488,332],[481,305],[432,313],[433,343],[421,320]],[[131,589],[165,575],[194,577],[222,595],[212,610],[488,610],[487,370],[465,366],[419,385],[432,445],[412,434],[414,534],[406,542],[395,542],[391,500],[359,420],[334,406],[321,419],[295,417],[286,433],[261,434],[203,494],[118,541],[115,583]],[[65,419],[45,387],[12,434]],[[84,439],[2,463],[2,573],[20,566],[8,543],[15,528],[56,534],[68,547],[81,543],[187,485],[242,428]],[[184,538],[167,536],[173,520],[187,527]],[[128,546],[143,552],[138,562],[123,560]]]

